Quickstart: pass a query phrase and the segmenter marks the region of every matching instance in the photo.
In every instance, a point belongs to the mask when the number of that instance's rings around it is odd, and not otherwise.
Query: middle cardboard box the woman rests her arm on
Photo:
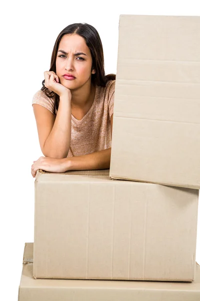
[[[192,281],[198,190],[108,175],[37,171],[33,276]]]

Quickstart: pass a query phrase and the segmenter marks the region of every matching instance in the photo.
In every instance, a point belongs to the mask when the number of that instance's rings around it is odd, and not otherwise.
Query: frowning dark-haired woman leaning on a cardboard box
[[[94,27],[75,23],[58,35],[49,71],[32,99],[42,154],[38,169],[109,169],[115,75],[104,72],[103,49]]]

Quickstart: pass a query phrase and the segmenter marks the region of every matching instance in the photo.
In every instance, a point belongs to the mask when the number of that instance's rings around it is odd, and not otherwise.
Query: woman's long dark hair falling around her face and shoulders
[[[111,73],[111,74],[105,75],[103,48],[102,48],[102,43],[101,43],[99,34],[93,26],[91,26],[87,23],[70,24],[59,33],[59,35],[55,41],[55,44],[53,46],[49,71],[54,71],[56,73],[55,61],[56,61],[58,45],[59,45],[59,42],[60,42],[62,36],[67,35],[67,34],[77,34],[85,40],[85,43],[90,50],[90,54],[91,54],[91,58],[92,58],[91,71],[92,71],[92,69],[96,70],[96,72],[94,74],[91,74],[91,82],[93,84],[105,87],[107,81],[115,80],[115,77],[116,77],[115,74]],[[44,80],[42,81],[41,90],[44,91],[46,96],[54,97],[54,100],[55,100],[54,114],[55,114],[55,109],[57,110],[58,105],[59,105],[59,95],[57,95],[53,91],[50,91],[48,88],[46,88],[44,86]]]

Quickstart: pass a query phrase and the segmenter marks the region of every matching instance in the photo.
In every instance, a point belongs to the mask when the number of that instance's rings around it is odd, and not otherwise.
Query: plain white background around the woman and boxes
[[[9,1],[0,7],[0,300],[17,300],[25,242],[33,242],[33,161],[39,148],[31,100],[57,35],[72,23],[98,31],[105,73],[116,73],[119,15],[199,16],[197,1]],[[200,206],[199,206],[200,207]],[[199,214],[198,214],[199,216]],[[200,218],[196,261],[200,263]],[[27,300],[28,301],[28,300]]]

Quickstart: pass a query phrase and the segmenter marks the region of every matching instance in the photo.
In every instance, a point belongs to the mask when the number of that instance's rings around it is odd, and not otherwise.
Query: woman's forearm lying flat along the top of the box
[[[66,158],[68,170],[109,169],[111,147],[88,155]]]

